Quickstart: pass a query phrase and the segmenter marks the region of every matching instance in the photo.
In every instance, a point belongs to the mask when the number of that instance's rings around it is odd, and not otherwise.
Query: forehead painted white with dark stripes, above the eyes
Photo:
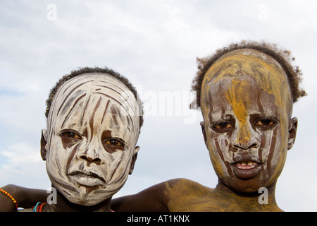
[[[58,89],[49,113],[49,118],[54,121],[48,120],[48,126],[67,121],[77,114],[82,117],[90,117],[90,114],[104,116],[107,109],[113,112],[113,106],[119,109],[116,114],[137,116],[139,112],[135,96],[121,81],[107,74],[83,74],[71,78]],[[133,117],[133,120],[138,118]]]

